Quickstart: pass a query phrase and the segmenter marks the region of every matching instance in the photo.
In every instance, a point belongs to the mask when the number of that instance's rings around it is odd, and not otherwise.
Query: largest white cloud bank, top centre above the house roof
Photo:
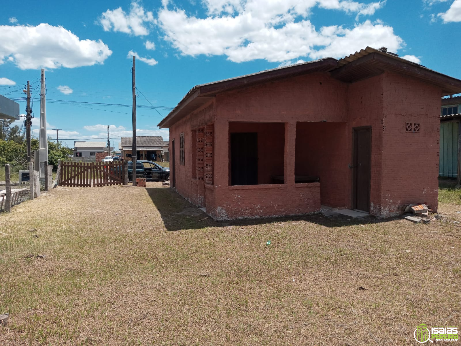
[[[165,1],[166,2],[166,1]],[[352,28],[322,27],[307,18],[315,6],[372,15],[384,1],[364,4],[340,0],[204,0],[207,18],[167,6],[159,11],[164,39],[182,55],[225,55],[234,62],[265,59],[291,62],[301,57],[343,57],[366,46],[397,51],[404,45],[392,27],[367,20]],[[326,54],[326,55],[325,55]]]

